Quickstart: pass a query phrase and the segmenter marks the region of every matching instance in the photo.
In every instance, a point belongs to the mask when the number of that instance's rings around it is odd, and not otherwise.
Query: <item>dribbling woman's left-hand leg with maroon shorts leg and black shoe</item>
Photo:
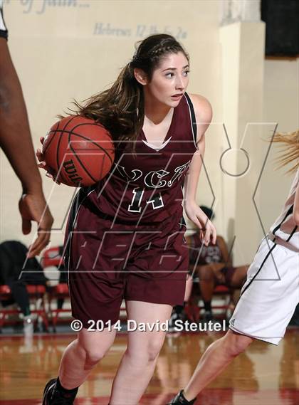
[[[110,261],[110,256],[101,255],[98,248],[103,246],[106,251],[110,246],[113,248],[116,236],[109,234],[105,238],[110,223],[83,205],[79,206],[77,216],[70,214],[71,218],[80,231],[73,232],[70,228],[67,234],[71,236],[66,253],[68,285],[72,315],[81,322],[83,330],[65,349],[59,379],[46,385],[43,405],[73,404],[78,386],[115,339],[115,329],[109,330],[107,322],[110,325],[117,322],[124,291],[123,279],[113,267],[115,262]]]

